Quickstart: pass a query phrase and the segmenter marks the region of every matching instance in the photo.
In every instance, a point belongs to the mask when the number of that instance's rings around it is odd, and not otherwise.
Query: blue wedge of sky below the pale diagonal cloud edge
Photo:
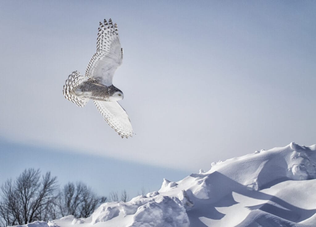
[[[15,179],[26,168],[35,168],[42,174],[50,171],[52,176],[57,176],[61,187],[69,181],[83,181],[99,195],[109,196],[111,192],[118,192],[120,197],[125,189],[131,199],[142,190],[146,194],[159,190],[163,178],[178,181],[190,174],[183,170],[3,140],[0,140],[0,146],[3,151],[0,184],[8,178]]]

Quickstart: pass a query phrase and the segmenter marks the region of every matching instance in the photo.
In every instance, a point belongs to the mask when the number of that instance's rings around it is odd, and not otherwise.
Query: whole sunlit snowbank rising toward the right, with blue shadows
[[[23,227],[316,226],[316,145],[261,149],[213,162],[129,202],[109,202],[89,218],[67,216]]]

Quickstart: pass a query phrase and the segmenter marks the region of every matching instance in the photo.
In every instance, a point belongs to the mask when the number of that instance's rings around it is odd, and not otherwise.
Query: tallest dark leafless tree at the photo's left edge
[[[50,172],[40,177],[40,170],[26,169],[14,182],[1,187],[0,216],[5,225],[27,224],[50,218],[48,208],[56,199],[57,177]]]

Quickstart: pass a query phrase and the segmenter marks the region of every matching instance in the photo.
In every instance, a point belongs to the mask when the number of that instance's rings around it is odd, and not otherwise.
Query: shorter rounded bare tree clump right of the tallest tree
[[[106,197],[97,196],[86,184],[67,183],[58,196],[58,208],[61,216],[74,215],[76,218],[87,218]]]

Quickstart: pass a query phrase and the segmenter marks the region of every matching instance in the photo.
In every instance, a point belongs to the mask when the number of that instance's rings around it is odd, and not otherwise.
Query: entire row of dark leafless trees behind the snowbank
[[[111,201],[119,201],[118,193],[110,194]],[[126,202],[126,190],[121,200]],[[87,218],[100,204],[107,201],[83,182],[68,182],[60,188],[56,176],[50,172],[26,169],[14,181],[3,183],[0,189],[0,220],[3,227],[53,220],[67,215]]]

